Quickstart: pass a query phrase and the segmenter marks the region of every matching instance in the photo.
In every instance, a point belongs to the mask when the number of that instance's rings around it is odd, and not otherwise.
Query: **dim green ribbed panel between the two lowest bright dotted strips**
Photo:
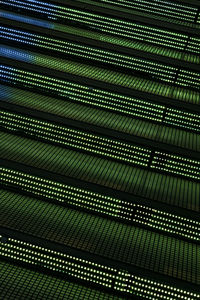
[[[0,202],[7,211],[7,218],[1,220],[4,228],[20,231],[24,236],[29,234],[44,241],[62,243],[63,249],[76,247],[88,256],[129,263],[133,270],[138,266],[169,275],[168,267],[171,266],[173,278],[197,285],[200,282],[197,273],[200,246],[195,243],[13,192],[3,191]],[[162,264],[156,264],[158,256]],[[191,265],[194,267],[190,268]],[[178,272],[182,269],[188,270],[186,275]]]

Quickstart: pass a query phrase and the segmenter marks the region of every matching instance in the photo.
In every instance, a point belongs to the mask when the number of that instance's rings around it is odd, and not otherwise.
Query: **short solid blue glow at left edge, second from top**
[[[15,48],[3,46],[3,45],[0,47],[0,55],[3,57],[20,60],[28,63],[33,63],[34,60],[34,56],[28,54],[26,51],[20,49],[17,50]]]

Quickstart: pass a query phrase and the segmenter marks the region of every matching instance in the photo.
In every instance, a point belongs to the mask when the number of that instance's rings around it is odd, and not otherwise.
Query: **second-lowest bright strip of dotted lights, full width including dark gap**
[[[15,187],[18,191],[29,192],[32,196],[45,197],[48,200],[56,200],[73,207],[85,208],[91,212],[200,241],[200,222],[198,221],[136,204],[133,201],[127,203],[121,199],[61,184],[24,172],[3,167],[0,167],[0,171],[3,185]]]

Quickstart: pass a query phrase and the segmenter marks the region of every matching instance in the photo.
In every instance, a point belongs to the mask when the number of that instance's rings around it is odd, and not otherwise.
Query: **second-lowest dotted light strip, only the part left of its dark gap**
[[[0,168],[0,170],[2,171],[2,183],[17,186],[19,189],[35,195],[115,217],[120,216],[120,211],[123,209],[124,202],[117,198],[13,170],[4,168]],[[128,220],[130,216],[124,215],[123,218]]]

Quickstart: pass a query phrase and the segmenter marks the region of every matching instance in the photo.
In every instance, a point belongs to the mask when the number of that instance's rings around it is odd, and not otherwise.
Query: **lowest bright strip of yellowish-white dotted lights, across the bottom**
[[[1,236],[0,236],[1,238]],[[145,299],[198,300],[200,294],[181,289],[166,282],[152,278],[130,274],[124,270],[106,268],[89,260],[73,257],[48,248],[8,238],[8,242],[0,242],[0,255],[21,261],[30,265],[41,263],[43,267],[51,270],[65,272],[75,278],[97,283],[101,286],[112,287],[114,290],[128,293],[132,296],[141,296]]]

